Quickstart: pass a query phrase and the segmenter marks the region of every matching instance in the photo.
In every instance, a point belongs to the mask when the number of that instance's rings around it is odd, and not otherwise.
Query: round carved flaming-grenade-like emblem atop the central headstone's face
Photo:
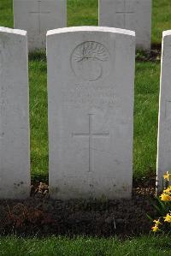
[[[71,55],[74,74],[85,81],[96,81],[108,75],[109,62],[109,51],[97,42],[84,42],[78,45]]]

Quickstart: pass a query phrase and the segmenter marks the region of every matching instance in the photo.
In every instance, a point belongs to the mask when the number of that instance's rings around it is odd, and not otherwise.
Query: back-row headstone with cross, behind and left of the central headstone
[[[27,30],[30,51],[45,49],[50,29],[67,27],[67,0],[14,0],[15,28]]]

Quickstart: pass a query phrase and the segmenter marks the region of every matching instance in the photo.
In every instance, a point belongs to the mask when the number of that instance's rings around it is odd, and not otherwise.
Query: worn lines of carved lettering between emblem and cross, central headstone
[[[115,107],[114,87],[92,87],[75,86],[68,91],[64,91],[63,102],[79,108],[84,105],[97,109],[112,109]]]

